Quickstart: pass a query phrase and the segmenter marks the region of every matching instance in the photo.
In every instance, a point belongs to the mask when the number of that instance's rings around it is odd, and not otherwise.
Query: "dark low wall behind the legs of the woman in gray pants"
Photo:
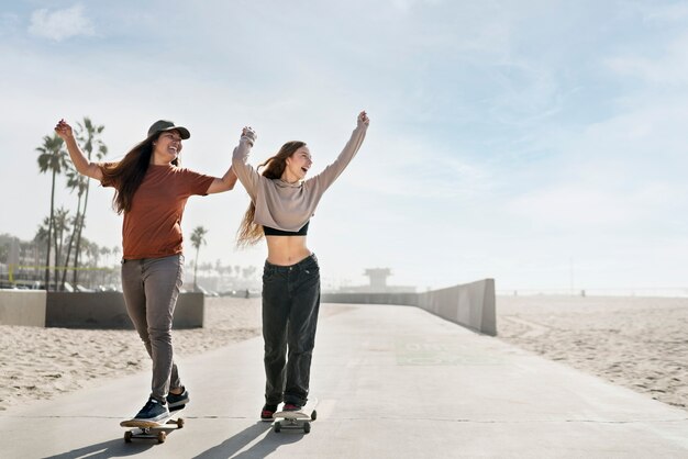
[[[180,293],[173,327],[203,326],[204,296],[200,292]],[[47,292],[45,326],[63,328],[133,329],[120,292]]]

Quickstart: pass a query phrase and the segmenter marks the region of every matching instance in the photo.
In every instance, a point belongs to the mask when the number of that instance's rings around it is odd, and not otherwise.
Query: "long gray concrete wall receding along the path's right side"
[[[321,301],[418,306],[485,335],[497,335],[495,279],[484,279],[424,293],[324,293]]]

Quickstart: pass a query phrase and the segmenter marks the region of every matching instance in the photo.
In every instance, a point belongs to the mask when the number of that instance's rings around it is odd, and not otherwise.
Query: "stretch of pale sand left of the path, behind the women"
[[[206,326],[173,332],[177,356],[260,333],[260,299],[209,298]],[[0,326],[0,410],[151,369],[134,331]]]

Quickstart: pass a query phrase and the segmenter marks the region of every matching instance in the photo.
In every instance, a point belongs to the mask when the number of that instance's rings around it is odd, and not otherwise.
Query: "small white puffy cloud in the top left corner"
[[[36,10],[31,14],[29,33],[34,36],[62,42],[73,36],[95,35],[92,22],[84,14],[84,7],[75,4],[65,10]]]

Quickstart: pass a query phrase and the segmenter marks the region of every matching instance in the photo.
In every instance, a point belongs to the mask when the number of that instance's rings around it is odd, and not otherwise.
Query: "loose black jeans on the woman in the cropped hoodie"
[[[306,404],[319,309],[320,267],[315,255],[292,266],[265,262],[263,338],[267,404]]]

